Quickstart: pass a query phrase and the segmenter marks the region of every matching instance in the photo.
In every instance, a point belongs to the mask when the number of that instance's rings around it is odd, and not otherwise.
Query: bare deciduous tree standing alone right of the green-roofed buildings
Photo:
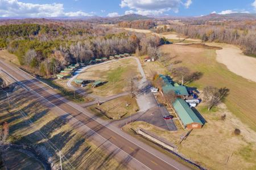
[[[204,88],[204,101],[208,106],[208,111],[210,109],[219,104],[222,100],[225,99],[226,96],[228,96],[229,89],[224,87],[224,88],[216,88],[212,86],[207,86]]]

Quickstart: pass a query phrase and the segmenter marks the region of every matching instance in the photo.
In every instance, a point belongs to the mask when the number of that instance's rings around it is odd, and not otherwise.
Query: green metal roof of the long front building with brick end
[[[174,109],[176,113],[179,115],[181,121],[185,126],[191,124],[193,122],[197,122],[203,125],[203,122],[196,116],[195,112],[188,106],[188,104],[183,99],[176,99],[174,101]]]

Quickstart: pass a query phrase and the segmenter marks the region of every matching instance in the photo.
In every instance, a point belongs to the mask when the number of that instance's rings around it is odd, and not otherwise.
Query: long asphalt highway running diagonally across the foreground
[[[138,169],[189,169],[154,148],[143,145],[137,139],[127,137],[127,135],[121,133],[121,130],[113,130],[113,128],[105,126],[100,121],[90,117],[90,113],[85,109],[76,107],[77,105],[71,104],[70,101],[61,100],[60,97],[58,97],[59,95],[53,94],[51,88],[13,65],[0,60],[0,69],[12,76],[21,86],[35,92],[51,104],[56,105],[60,110],[75,117],[77,121],[81,122],[94,133],[109,140],[113,145],[130,155],[131,159],[135,159],[138,164],[140,164]]]

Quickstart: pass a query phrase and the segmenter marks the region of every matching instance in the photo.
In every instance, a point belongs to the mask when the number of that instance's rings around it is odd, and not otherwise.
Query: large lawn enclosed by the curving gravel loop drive
[[[98,96],[111,96],[129,90],[130,79],[141,79],[137,62],[133,58],[122,59],[112,63],[91,67],[81,73],[77,79],[101,80],[102,86],[92,88],[88,84],[85,88]]]

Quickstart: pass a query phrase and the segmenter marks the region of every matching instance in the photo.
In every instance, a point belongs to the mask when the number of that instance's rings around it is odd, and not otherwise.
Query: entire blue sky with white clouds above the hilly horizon
[[[256,0],[0,0],[0,17],[201,16],[256,12]]]

